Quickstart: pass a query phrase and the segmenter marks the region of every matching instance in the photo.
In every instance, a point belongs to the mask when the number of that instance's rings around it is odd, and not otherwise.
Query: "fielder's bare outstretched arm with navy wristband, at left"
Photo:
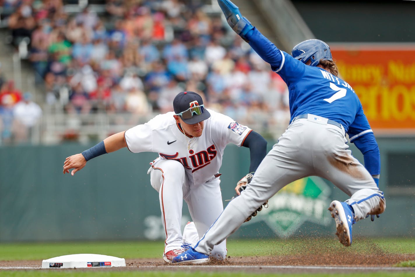
[[[75,174],[76,171],[80,171],[90,159],[127,147],[124,133],[125,131],[109,136],[88,150],[67,157],[63,163],[63,174],[69,173],[69,170],[73,168],[73,171],[71,172],[71,175],[73,176],[73,174]]]

